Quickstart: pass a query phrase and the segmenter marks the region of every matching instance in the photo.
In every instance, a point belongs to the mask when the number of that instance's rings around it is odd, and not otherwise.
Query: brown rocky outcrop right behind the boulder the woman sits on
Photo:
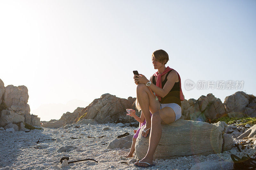
[[[181,101],[182,117],[185,120],[206,121],[206,118],[214,120],[217,114],[226,112],[224,104],[218,98],[215,98],[212,93],[207,96],[201,96],[198,100],[189,99]]]

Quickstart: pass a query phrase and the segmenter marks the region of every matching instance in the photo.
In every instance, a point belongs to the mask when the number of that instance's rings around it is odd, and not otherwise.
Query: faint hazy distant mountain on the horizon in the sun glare
[[[50,103],[42,104],[37,109],[32,110],[30,113],[38,115],[41,121],[50,121],[51,119],[60,119],[63,113],[72,113],[77,107],[86,107],[90,102],[83,100],[70,100],[66,104],[62,103]]]

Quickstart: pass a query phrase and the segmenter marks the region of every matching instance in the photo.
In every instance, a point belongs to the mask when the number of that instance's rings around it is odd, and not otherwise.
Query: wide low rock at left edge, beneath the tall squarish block
[[[2,127],[9,123],[24,122],[24,120],[22,115],[18,115],[12,110],[2,110],[0,113],[0,126]]]

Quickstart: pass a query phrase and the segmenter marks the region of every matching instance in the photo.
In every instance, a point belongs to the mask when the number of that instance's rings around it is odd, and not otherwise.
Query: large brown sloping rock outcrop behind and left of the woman
[[[84,118],[94,119],[99,123],[115,122],[120,115],[126,115],[125,109],[132,108],[135,100],[136,98],[132,97],[121,99],[108,93],[103,94],[78,114],[76,122]]]

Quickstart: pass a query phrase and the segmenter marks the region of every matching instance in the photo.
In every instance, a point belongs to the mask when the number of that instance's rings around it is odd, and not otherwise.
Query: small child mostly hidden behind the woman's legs
[[[138,100],[136,99],[136,108],[140,111],[141,108],[140,108],[140,105],[139,105],[139,102]],[[135,151],[135,143],[136,143],[136,139],[140,133],[140,128],[146,124],[146,119],[141,111],[141,114],[140,114],[140,118],[138,116],[135,115],[135,110],[132,110],[132,109],[126,109],[126,111],[129,113],[129,114],[126,114],[126,115],[129,115],[129,116],[133,116],[134,119],[136,119],[138,122],[140,122],[140,125],[139,125],[139,129],[137,130],[137,132],[134,134],[133,138],[132,138],[132,147],[131,147],[131,150],[129,152],[129,154],[126,156],[126,158],[131,158],[133,157],[132,154],[133,152]],[[151,112],[150,113],[150,117],[152,116]],[[149,135],[149,134],[148,134]]]

